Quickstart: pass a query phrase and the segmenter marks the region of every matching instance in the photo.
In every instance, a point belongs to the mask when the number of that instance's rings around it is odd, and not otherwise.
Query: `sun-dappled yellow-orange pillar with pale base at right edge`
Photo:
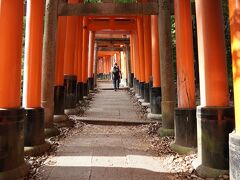
[[[240,179],[240,0],[229,0],[236,129],[229,135],[230,179]]]

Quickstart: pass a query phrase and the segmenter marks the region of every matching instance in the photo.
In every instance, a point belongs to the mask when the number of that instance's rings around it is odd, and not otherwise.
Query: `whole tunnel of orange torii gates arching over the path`
[[[65,114],[95,88],[97,74],[109,76],[114,62],[121,66],[128,87],[150,102],[149,117],[161,117],[160,136],[175,135],[172,149],[179,153],[197,149],[194,166],[202,176],[230,170],[231,179],[240,179],[240,0],[229,0],[235,111],[229,106],[220,0],[131,4],[46,0],[45,24],[44,1],[27,0],[22,101],[25,11],[20,7],[23,0],[0,1],[0,179],[26,173],[24,154],[48,149],[45,138],[58,134],[56,124],[71,125]],[[198,106],[192,13],[197,20]]]

